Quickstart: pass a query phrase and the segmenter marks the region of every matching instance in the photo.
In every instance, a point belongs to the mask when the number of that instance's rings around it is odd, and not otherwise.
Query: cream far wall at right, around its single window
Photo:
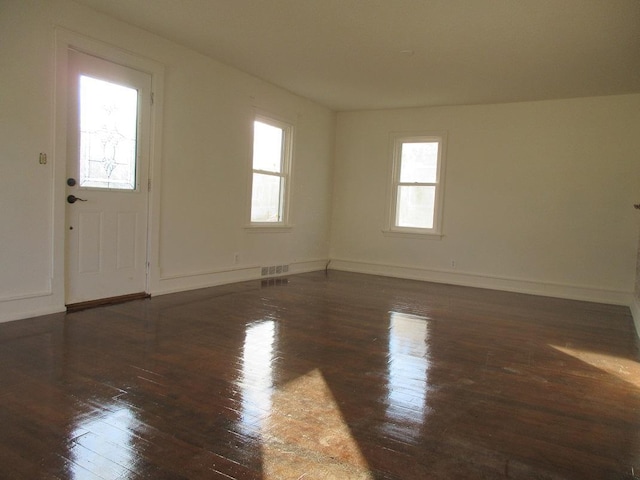
[[[444,237],[386,237],[389,134],[422,130],[448,132]],[[629,305],[639,131],[640,95],[340,113],[332,267]]]

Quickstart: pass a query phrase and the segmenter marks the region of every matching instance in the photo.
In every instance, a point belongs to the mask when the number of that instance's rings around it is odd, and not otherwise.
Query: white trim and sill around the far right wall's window
[[[400,154],[403,143],[438,142],[438,171],[436,173],[436,196],[433,212],[433,228],[399,227],[396,225],[398,186],[400,185]],[[406,238],[442,238],[442,214],[446,171],[446,132],[399,132],[390,136],[390,176],[387,195],[387,221],[382,230],[385,236]],[[429,183],[429,185],[433,185]]]

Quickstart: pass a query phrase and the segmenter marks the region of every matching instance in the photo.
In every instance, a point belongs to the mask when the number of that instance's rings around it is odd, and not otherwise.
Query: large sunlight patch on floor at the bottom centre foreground
[[[274,393],[262,448],[265,480],[374,478],[319,369]]]

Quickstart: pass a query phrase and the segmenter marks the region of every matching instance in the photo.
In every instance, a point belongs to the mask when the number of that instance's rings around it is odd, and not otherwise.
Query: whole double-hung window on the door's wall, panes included
[[[256,117],[253,123],[251,224],[286,225],[293,126]]]

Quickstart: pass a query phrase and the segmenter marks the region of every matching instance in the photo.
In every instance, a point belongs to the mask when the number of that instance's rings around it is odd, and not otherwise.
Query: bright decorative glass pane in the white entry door
[[[80,186],[135,190],[138,91],[80,77]]]

